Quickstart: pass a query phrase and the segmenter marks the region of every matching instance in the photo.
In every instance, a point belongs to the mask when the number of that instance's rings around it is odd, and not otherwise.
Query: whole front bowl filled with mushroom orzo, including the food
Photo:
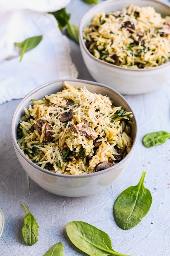
[[[21,100],[11,133],[31,179],[54,194],[77,197],[97,193],[119,176],[134,152],[137,122],[115,90],[60,80]]]

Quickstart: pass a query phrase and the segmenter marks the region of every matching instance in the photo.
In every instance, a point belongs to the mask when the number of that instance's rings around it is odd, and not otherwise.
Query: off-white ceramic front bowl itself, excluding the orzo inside
[[[102,84],[98,84],[96,82],[84,80],[67,80],[68,84],[71,84],[74,87],[82,88],[85,86],[90,92],[107,95],[114,101],[115,106],[122,106],[125,110],[132,111],[133,125],[131,129],[134,142],[130,152],[123,160],[121,160],[113,167],[99,172],[71,176],[56,174],[48,170],[42,169],[35,163],[31,162],[31,160],[29,160],[20,150],[16,140],[17,125],[20,117],[24,114],[24,107],[29,107],[30,100],[32,98],[41,99],[46,94],[52,94],[56,93],[57,91],[61,91],[63,89],[63,81],[64,80],[58,80],[50,82],[48,84],[44,84],[30,92],[27,96],[24,97],[23,100],[21,100],[21,102],[14,111],[11,123],[11,133],[14,150],[24,170],[27,172],[30,178],[33,179],[33,181],[36,182],[43,189],[46,189],[47,191],[57,195],[71,197],[92,195],[100,192],[105,187],[112,184],[112,182],[119,176],[122,169],[128,164],[137,142],[137,121],[135,119],[134,112],[131,110],[131,107],[128,105],[127,101],[112,88],[109,88]]]

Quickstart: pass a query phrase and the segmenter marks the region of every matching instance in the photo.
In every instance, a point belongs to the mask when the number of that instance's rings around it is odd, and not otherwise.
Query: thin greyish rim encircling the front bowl
[[[91,85],[97,85],[97,86],[100,86],[100,87],[104,87],[104,88],[107,88],[111,91],[113,91],[115,94],[117,94],[122,100],[124,100],[124,102],[128,105],[129,109],[131,110],[131,112],[133,113],[133,118],[134,118],[134,123],[136,125],[136,132],[135,132],[135,135],[134,135],[134,141],[133,141],[133,144],[132,144],[132,147],[131,147],[131,150],[129,151],[129,153],[120,161],[118,162],[117,164],[115,164],[114,166],[112,167],[109,167],[107,169],[104,169],[100,172],[93,172],[93,173],[87,173],[87,174],[83,174],[83,175],[67,175],[67,174],[58,174],[58,173],[55,173],[55,172],[51,172],[49,170],[46,170],[46,169],[43,169],[41,168],[40,166],[37,166],[35,163],[33,163],[30,159],[28,159],[24,153],[21,151],[20,147],[18,146],[18,143],[17,143],[17,140],[15,139],[15,123],[14,123],[14,119],[15,119],[15,116],[16,116],[16,113],[18,111],[18,109],[20,109],[20,106],[21,104],[27,100],[28,98],[31,97],[32,94],[34,94],[35,92],[41,90],[42,88],[44,87],[48,87],[50,84],[53,84],[53,83],[56,83],[56,82],[61,82],[63,83],[64,81],[67,81],[68,83],[69,82],[80,82],[80,83],[85,83],[85,84],[91,84]],[[110,171],[111,169],[115,169],[117,168],[119,165],[121,165],[122,162],[126,161],[126,159],[132,154],[132,152],[134,151],[134,148],[137,144],[137,137],[138,137],[138,123],[137,123],[137,119],[135,117],[135,114],[134,114],[134,111],[132,110],[132,108],[130,107],[129,103],[127,102],[127,100],[118,92],[116,91],[115,89],[107,86],[107,85],[104,85],[104,84],[100,84],[100,83],[97,83],[97,82],[92,82],[92,81],[88,81],[88,80],[81,80],[81,79],[59,79],[59,80],[53,80],[51,82],[48,82],[46,84],[43,84],[39,87],[36,87],[34,90],[32,90],[29,94],[27,94],[17,105],[17,107],[15,108],[14,110],[14,113],[13,113],[13,116],[12,116],[12,120],[11,120],[11,136],[12,136],[12,141],[13,141],[13,145],[15,147],[15,149],[17,150],[17,152],[20,154],[20,156],[22,158],[24,158],[25,161],[27,161],[31,166],[33,166],[35,169],[38,169],[39,171],[41,172],[44,172],[46,174],[50,174],[52,176],[57,176],[57,177],[63,177],[63,178],[71,178],[71,179],[74,179],[74,178],[88,178],[88,177],[93,177],[93,176],[98,176],[98,175],[101,175],[102,173],[104,172],[108,172]]]

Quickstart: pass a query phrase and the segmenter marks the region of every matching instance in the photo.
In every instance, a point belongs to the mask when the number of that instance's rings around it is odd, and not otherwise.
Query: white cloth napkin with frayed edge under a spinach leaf
[[[9,2],[11,1],[8,0],[7,3]],[[60,2],[60,9],[64,6],[61,3],[66,4],[68,0],[34,0],[33,9],[38,8],[35,2],[46,3],[44,8],[43,4],[40,4],[41,11],[45,10],[49,2],[51,5],[48,6],[48,11],[54,11],[57,4],[54,5],[53,2]],[[28,8],[26,3],[25,8]],[[14,42],[41,34],[42,41],[34,49],[27,51],[19,62],[20,53],[14,48]],[[0,104],[22,98],[46,82],[77,78],[77,75],[70,57],[68,39],[61,34],[53,15],[28,9],[0,12]]]

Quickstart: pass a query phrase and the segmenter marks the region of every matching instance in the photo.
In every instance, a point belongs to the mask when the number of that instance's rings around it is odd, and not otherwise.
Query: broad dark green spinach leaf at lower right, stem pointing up
[[[136,186],[125,189],[115,200],[113,213],[119,228],[133,228],[148,213],[152,204],[152,195],[143,185],[146,172]]]

